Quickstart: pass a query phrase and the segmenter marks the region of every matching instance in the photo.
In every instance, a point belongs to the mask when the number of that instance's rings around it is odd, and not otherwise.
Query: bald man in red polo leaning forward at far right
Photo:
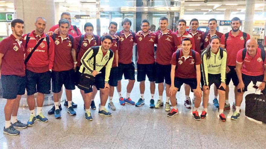
[[[261,89],[265,94],[266,82],[266,61],[265,51],[258,48],[256,39],[249,39],[246,43],[246,48],[238,51],[236,56],[236,73],[239,80],[236,94],[236,110],[231,116],[232,120],[237,120],[240,117],[240,105],[243,100],[243,94],[248,89],[249,83],[252,81],[256,85],[257,81],[262,82],[258,89]],[[242,67],[243,66],[243,67]]]

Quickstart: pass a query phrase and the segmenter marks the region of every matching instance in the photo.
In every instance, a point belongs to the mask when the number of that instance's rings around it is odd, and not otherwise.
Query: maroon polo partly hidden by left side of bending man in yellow
[[[81,43],[81,46],[80,46],[80,50],[79,50],[79,52],[78,52],[78,54],[77,54],[77,62],[78,62],[78,64],[77,64],[77,66],[78,67],[80,67],[81,66],[81,62],[80,62],[80,60],[81,60],[81,57],[83,56],[83,54],[90,48],[90,47],[93,47],[93,46],[97,46],[97,41],[96,41],[96,39],[92,36],[92,39],[89,41],[89,39],[87,39],[87,37],[86,37],[86,34],[85,35],[80,35],[80,36],[83,36],[83,41],[82,41],[82,43]],[[78,47],[79,46],[79,39],[80,39],[80,36],[77,36],[77,37],[75,37],[75,43],[76,43],[76,47]],[[97,35],[98,36],[98,35]],[[98,36],[98,39],[99,39],[100,37]]]

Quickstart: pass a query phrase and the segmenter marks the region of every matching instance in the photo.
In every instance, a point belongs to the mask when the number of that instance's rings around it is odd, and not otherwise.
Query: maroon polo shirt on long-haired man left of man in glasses
[[[115,35],[118,34],[116,33]],[[134,36],[130,31],[129,35],[126,37],[124,34],[124,30],[122,30],[120,32],[119,37],[120,41],[119,41],[118,62],[122,64],[130,64],[132,63]]]

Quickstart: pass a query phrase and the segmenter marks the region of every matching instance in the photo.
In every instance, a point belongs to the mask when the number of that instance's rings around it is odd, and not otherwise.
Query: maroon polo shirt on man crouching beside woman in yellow
[[[183,56],[183,51],[179,53],[179,59],[176,58],[176,52],[174,52],[171,60],[172,65],[177,65],[175,70],[175,77],[178,78],[197,78],[196,68],[194,64],[200,65],[200,54],[195,52],[195,59],[192,56],[192,51],[190,51],[189,56],[185,59]]]

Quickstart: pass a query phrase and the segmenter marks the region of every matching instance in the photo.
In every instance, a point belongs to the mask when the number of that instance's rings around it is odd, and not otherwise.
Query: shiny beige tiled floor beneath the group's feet
[[[126,94],[127,81],[122,80],[122,93]],[[230,85],[230,96],[233,87]],[[138,101],[139,83],[131,93],[131,98]],[[157,90],[157,86],[156,86]],[[251,91],[247,92],[251,93]],[[245,117],[245,100],[241,106],[241,117],[230,120],[232,109],[225,111],[227,121],[221,122],[217,108],[212,105],[213,88],[205,120],[195,121],[192,110],[183,106],[185,98],[183,87],[177,95],[179,114],[167,117],[164,108],[149,108],[149,82],[146,81],[145,104],[141,107],[121,106],[115,91],[115,111],[111,117],[98,115],[98,108],[92,111],[93,121],[84,118],[83,100],[76,89],[73,92],[76,116],[70,116],[63,107],[61,119],[54,119],[47,111],[51,106],[43,107],[49,119],[47,123],[36,121],[34,126],[21,129],[17,136],[0,133],[0,148],[265,148],[266,124],[256,123]],[[192,97],[192,94],[190,94]],[[155,94],[158,98],[158,93]],[[165,95],[164,95],[165,101]],[[232,105],[233,100],[230,99]],[[5,125],[5,99],[0,99],[0,126]],[[95,99],[99,104],[99,94]],[[98,107],[98,106],[97,106]],[[107,106],[106,106],[107,107]],[[200,110],[202,110],[202,106]],[[19,109],[18,119],[26,123],[29,118],[28,108]],[[2,131],[2,129],[1,129]]]

